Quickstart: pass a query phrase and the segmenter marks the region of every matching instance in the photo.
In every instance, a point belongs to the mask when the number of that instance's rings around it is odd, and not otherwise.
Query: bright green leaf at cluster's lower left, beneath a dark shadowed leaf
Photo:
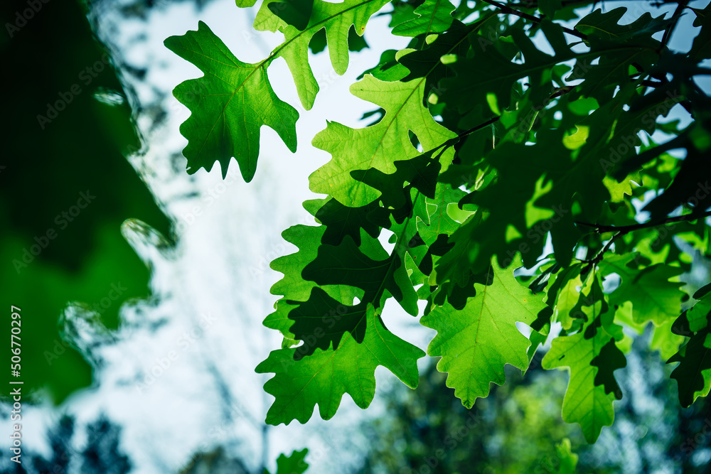
[[[294,360],[296,348],[274,350],[257,366],[257,373],[275,375],[264,390],[275,398],[267,412],[268,424],[306,423],[314,406],[323,419],[331,419],[343,394],[366,408],[375,394],[375,368],[383,365],[408,387],[417,387],[417,359],[424,352],[390,333],[373,306],[368,306],[362,343],[346,334],[337,349],[316,350]]]

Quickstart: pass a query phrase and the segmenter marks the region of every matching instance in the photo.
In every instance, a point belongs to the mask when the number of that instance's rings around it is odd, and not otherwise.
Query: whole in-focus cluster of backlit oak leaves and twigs
[[[284,43],[257,64],[204,23],[166,40],[205,72],[175,91],[193,112],[181,127],[190,171],[220,161],[225,173],[234,156],[249,181],[262,125],[295,149],[298,113],[274,94],[269,64],[287,61],[311,108],[309,45],[322,49],[325,31],[342,74],[353,32],[387,3],[264,1],[255,28]],[[711,286],[690,298],[681,278],[692,253],[708,252],[711,103],[696,81],[711,72],[701,65],[710,8],[680,1],[665,17],[645,5],[626,23],[625,8],[589,3],[383,9],[412,41],[351,86],[379,118],[329,122],[314,137],[332,158],[310,188],[327,197],[304,203],[317,225],[284,231],[298,252],[272,262],[282,298],[264,324],[284,344],[257,367],[275,374],[267,422],[304,422],[316,404],[328,419],[345,393],[365,408],[378,365],[416,386],[424,352],[388,330],[390,298],[412,316],[424,308],[420,322],[437,330],[427,352],[467,407],[505,381],[504,365],[526,370],[550,335],[543,367],[570,370],[563,419],[592,442],[622,396],[614,371],[629,335],[650,323],[653,349],[678,362],[681,404],[708,394]],[[668,41],[683,14],[700,29],[676,51]],[[520,266],[528,276],[514,276]]]

